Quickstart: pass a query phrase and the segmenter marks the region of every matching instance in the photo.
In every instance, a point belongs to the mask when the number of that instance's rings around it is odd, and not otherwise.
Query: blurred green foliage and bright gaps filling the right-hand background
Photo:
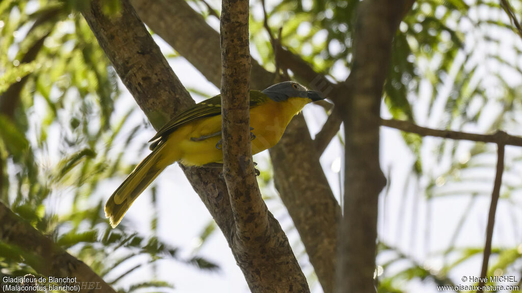
[[[267,2],[268,25],[274,35],[282,28],[282,45],[299,54],[317,72],[331,80],[342,81],[349,75],[352,64],[358,3],[337,0]],[[521,135],[522,42],[513,19],[509,19],[508,15],[519,17],[522,3],[509,3],[514,11],[504,11],[501,2],[495,1],[417,1],[400,23],[392,44],[391,64],[384,87],[386,110],[383,116],[441,129],[478,133],[503,129],[513,135]],[[251,15],[251,42],[260,62],[273,70],[275,58],[263,25],[262,4],[258,1],[253,6],[261,12]],[[474,263],[481,257],[482,249],[458,247],[457,238],[464,233],[466,219],[474,211],[473,203],[480,196],[489,197],[493,186],[496,163],[494,145],[422,139],[412,133],[401,135],[415,159],[411,164],[410,178],[404,185],[405,196],[400,211],[393,213],[393,216],[398,214],[399,231],[410,228],[411,231],[422,230],[430,235],[431,221],[437,221],[441,214],[426,212],[425,226],[418,228],[416,216],[420,215],[417,211],[419,200],[424,200],[427,209],[441,196],[471,197],[471,204],[462,211],[456,229],[447,229],[448,237],[452,236],[447,250],[429,251],[423,260],[413,260],[409,253],[397,254],[395,251],[394,263],[410,258],[410,265],[402,264],[397,269],[390,268],[392,263],[382,265],[383,272],[379,273],[382,276],[378,278],[379,292],[402,292],[405,284],[409,284],[405,280],[422,280],[426,284],[436,285],[452,284],[452,277],[458,280],[458,276],[452,275],[457,264]],[[386,148],[385,145],[382,147]],[[514,231],[515,237],[518,237],[516,239],[520,239],[522,235],[517,231],[522,229],[522,223],[516,215],[520,215],[522,185],[516,178],[522,175],[522,165],[519,164],[522,151],[514,148],[509,153],[502,200],[508,202],[514,214],[508,229]],[[484,178],[484,174],[491,175]],[[399,182],[395,178],[402,176],[392,170],[389,177],[390,184],[394,186]],[[405,198],[406,194],[411,196]],[[515,194],[518,198],[513,198]],[[417,199],[422,195],[423,198]],[[407,201],[413,202],[410,204]],[[404,217],[406,206],[411,206],[412,210],[408,213],[413,217],[412,223],[406,222]],[[387,221],[390,215],[384,217]],[[395,241],[401,242],[400,234],[398,236]],[[413,232],[409,237],[410,243],[422,240],[422,236]],[[389,254],[390,250],[381,243],[379,255]],[[505,275],[519,276],[516,272],[522,268],[520,252],[520,243],[515,247],[494,247],[491,274],[503,272]],[[457,262],[450,261],[455,258]],[[436,262],[434,260],[440,259],[445,260],[442,266],[432,265]],[[501,271],[495,272],[495,268]]]

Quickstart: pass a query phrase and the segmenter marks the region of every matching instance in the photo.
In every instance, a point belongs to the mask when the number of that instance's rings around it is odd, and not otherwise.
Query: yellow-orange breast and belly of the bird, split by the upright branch
[[[276,145],[288,123],[298,114],[309,99],[291,97],[284,102],[272,100],[250,109],[250,127],[255,139],[252,140],[252,154],[257,154]],[[167,148],[172,150],[165,156],[164,163],[180,161],[187,166],[201,166],[209,163],[221,163],[223,153],[216,148],[221,135],[201,141],[199,138],[221,131],[221,115],[194,120],[176,129],[167,139]],[[169,162],[170,161],[170,162]]]

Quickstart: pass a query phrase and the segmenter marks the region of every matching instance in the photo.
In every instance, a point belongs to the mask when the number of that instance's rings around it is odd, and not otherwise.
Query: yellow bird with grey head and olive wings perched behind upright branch
[[[321,92],[285,81],[263,91],[251,90],[250,130],[252,154],[276,145],[293,116],[312,102],[323,100]],[[169,165],[222,164],[221,96],[216,95],[172,118],[149,141],[152,152],[141,161],[105,204],[105,216],[114,228],[131,204]]]

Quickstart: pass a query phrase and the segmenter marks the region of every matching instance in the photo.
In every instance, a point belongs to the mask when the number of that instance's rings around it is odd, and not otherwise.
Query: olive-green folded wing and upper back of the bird
[[[256,107],[270,99],[260,91],[250,91],[250,107]],[[177,127],[189,123],[195,119],[221,115],[221,95],[216,95],[203,102],[197,103],[194,107],[187,109],[176,117],[172,118],[167,124],[163,125],[158,133],[149,142],[158,140],[169,135]]]

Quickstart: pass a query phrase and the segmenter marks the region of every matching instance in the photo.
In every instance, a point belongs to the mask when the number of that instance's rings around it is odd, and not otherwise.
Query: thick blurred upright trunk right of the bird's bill
[[[379,165],[379,115],[391,44],[413,1],[367,0],[355,25],[351,99],[343,110],[346,137],[344,217],[337,292],[375,292],[377,201],[386,179]]]

